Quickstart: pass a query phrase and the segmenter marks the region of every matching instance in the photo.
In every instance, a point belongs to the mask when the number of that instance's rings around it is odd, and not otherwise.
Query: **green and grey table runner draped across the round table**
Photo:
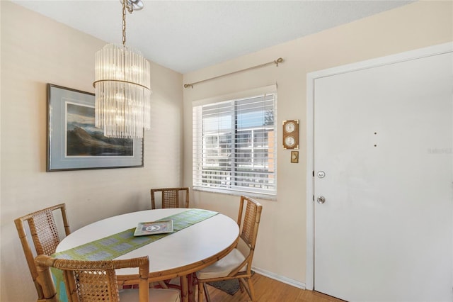
[[[161,218],[160,220],[173,220],[173,233],[183,230],[184,228],[190,227],[195,223],[199,223],[202,220],[211,218],[217,215],[217,212],[201,210],[198,208],[190,208],[181,213]],[[137,221],[137,223],[142,221]],[[159,240],[163,237],[171,235],[172,233],[146,235],[146,236],[134,236],[135,228],[122,231],[120,233],[104,237],[93,242],[88,242],[78,247],[73,247],[63,252],[57,252],[52,257],[59,259],[77,259],[77,260],[111,260],[121,255],[125,255],[127,252],[137,250],[139,247],[148,245],[151,242]],[[151,261],[151,259],[150,259]],[[59,301],[68,301],[66,290],[64,287],[63,274],[59,269],[52,268],[52,275],[54,276],[55,287],[59,296]]]

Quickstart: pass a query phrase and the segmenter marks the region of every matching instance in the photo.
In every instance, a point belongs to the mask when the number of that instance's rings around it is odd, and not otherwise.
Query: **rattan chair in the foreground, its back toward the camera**
[[[79,301],[180,301],[176,289],[149,289],[148,256],[121,260],[67,260],[40,255],[35,259],[38,283],[43,289],[43,301],[57,302],[57,291],[50,267],[63,271],[69,302]],[[119,291],[115,269],[138,267],[139,289]]]

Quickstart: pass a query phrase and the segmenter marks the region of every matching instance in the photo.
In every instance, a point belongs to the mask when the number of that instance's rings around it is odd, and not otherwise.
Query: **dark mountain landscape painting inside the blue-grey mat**
[[[132,157],[134,140],[107,138],[95,127],[93,106],[66,103],[67,157]]]

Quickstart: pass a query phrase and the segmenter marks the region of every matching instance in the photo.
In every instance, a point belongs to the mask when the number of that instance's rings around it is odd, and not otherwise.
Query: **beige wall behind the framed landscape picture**
[[[46,170],[46,84],[93,91],[105,42],[1,1],[1,298],[36,301],[13,220],[67,203],[72,230],[151,206],[153,186],[180,186],[182,75],[151,63],[152,125],[144,168]],[[168,130],[162,130],[164,125]],[[170,133],[170,135],[168,135]]]

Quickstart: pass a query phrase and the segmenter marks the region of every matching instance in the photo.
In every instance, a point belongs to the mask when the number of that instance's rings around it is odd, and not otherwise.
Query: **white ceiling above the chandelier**
[[[110,1],[13,1],[72,28],[121,44],[122,5]],[[191,72],[413,1],[153,1],[127,13],[127,45]]]

